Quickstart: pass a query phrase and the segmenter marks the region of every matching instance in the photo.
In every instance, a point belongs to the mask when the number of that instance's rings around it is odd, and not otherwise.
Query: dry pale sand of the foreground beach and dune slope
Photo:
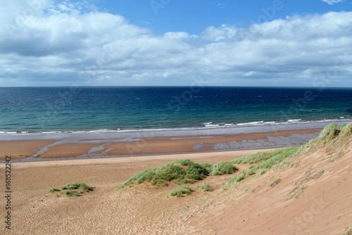
[[[114,191],[137,172],[174,159],[215,163],[256,151],[15,162],[13,229],[8,233],[3,224],[0,234],[341,234],[352,225],[351,146],[340,158],[325,151],[296,157],[296,167],[268,171],[228,191],[221,187],[240,172],[210,176],[192,185],[194,195],[184,198],[165,196],[175,188],[172,183],[159,189],[140,185]],[[322,169],[320,178],[310,178]],[[270,187],[277,178],[282,181]],[[44,197],[50,188],[75,181],[96,189],[81,197]],[[203,183],[215,191],[201,191]],[[308,187],[288,199],[301,185]]]

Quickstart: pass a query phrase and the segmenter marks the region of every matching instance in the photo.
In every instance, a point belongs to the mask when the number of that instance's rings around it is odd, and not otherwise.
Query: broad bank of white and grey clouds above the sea
[[[0,10],[0,85],[351,84],[350,12],[153,35],[84,1],[21,1]]]

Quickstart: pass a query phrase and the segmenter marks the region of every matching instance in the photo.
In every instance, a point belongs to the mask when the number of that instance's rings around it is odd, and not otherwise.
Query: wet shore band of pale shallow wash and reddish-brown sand
[[[15,162],[30,162],[298,146],[318,137],[328,123],[119,133],[0,135],[0,162],[4,162],[6,156],[11,156]]]

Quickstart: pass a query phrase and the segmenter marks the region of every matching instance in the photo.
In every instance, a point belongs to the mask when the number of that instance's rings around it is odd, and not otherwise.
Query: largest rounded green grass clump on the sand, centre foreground
[[[157,188],[160,186],[168,186],[170,181],[179,185],[194,183],[209,175],[209,167],[208,164],[198,164],[190,159],[180,159],[160,167],[141,171],[118,186],[116,190],[140,183],[151,183],[151,185]]]

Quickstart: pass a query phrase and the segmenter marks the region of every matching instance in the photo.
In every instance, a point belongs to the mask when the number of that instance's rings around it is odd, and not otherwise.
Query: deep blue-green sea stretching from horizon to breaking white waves
[[[0,88],[0,133],[350,121],[352,88]]]

